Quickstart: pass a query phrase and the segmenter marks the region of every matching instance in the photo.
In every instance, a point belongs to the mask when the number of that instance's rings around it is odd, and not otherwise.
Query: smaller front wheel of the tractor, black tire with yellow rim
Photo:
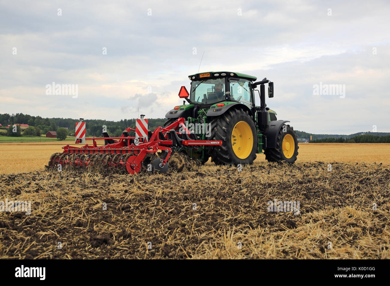
[[[264,150],[266,160],[269,162],[286,161],[294,163],[298,155],[298,139],[296,138],[293,126],[286,125],[286,132],[280,128],[276,148],[267,148]]]

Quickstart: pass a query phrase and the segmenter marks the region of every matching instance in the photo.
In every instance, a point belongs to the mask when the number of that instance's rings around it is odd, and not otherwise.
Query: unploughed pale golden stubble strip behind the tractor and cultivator
[[[18,174],[43,170],[51,154],[62,152],[62,146],[73,144],[73,140],[0,144],[0,174]],[[92,143],[91,143],[92,144]],[[103,140],[97,141],[103,145]],[[390,144],[342,144],[303,143],[297,163],[322,161],[327,163],[383,163],[390,165]],[[267,164],[264,154],[257,154],[255,165]],[[214,165],[210,161],[207,165]]]

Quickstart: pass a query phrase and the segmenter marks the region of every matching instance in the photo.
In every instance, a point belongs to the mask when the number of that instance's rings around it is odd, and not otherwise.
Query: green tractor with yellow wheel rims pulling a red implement
[[[205,163],[217,165],[252,164],[257,153],[263,153],[270,162],[294,163],[298,155],[298,140],[287,120],[277,120],[276,112],[265,103],[265,86],[268,97],[273,97],[273,82],[264,78],[237,72],[206,72],[188,77],[190,92],[184,86],[179,92],[188,104],[177,105],[165,115],[172,124],[178,118],[186,119],[190,132],[200,140],[221,140],[221,146],[203,146],[181,152]],[[260,86],[260,91],[257,88]],[[255,105],[255,91],[260,106]],[[192,130],[191,130],[192,129]],[[176,130],[178,131],[178,130]]]

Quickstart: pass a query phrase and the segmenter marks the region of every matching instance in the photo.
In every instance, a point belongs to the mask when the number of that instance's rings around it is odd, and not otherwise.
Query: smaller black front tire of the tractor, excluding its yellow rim
[[[293,126],[286,125],[286,132],[283,132],[283,126],[279,130],[278,139],[276,142],[276,148],[267,148],[264,150],[264,154],[266,155],[266,160],[269,162],[280,162],[286,161],[287,163],[293,164],[296,161],[296,156],[298,156],[298,139],[296,138],[296,134]],[[294,139],[294,153],[290,158],[286,158],[283,153],[283,139],[284,137],[290,134]]]

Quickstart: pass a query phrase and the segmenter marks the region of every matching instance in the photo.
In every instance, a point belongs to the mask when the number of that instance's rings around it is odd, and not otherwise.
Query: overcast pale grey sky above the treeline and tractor
[[[204,52],[200,72],[273,81],[296,130],[390,132],[390,2],[339,2],[0,0],[0,113],[163,118]]]

